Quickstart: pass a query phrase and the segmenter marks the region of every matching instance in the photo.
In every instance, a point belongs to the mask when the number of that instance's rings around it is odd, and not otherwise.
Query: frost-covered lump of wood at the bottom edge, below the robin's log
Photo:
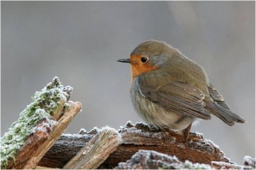
[[[139,150],[131,159],[120,162],[115,169],[211,169],[207,164],[193,164],[186,160],[180,162],[175,156],[157,151]]]

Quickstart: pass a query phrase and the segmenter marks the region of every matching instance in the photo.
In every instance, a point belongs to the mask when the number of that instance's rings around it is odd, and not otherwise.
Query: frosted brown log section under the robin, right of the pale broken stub
[[[210,164],[212,160],[229,162],[224,153],[200,134],[189,134],[189,139],[184,141],[184,136],[170,130],[164,132],[151,132],[147,125],[131,123],[120,130],[122,145],[102,164],[101,168],[114,167],[118,162],[131,158],[138,150],[154,150],[168,155],[175,155],[180,160],[189,160],[195,163]]]

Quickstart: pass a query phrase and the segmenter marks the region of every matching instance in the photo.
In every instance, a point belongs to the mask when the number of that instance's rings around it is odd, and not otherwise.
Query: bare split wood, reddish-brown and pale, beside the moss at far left
[[[68,123],[70,123],[70,121],[82,108],[82,104],[80,102],[70,101],[68,104],[70,107],[68,111],[63,113],[60,120],[46,120],[45,123],[50,123],[49,125],[51,126],[47,132],[35,131],[29,136],[17,155],[16,163],[13,165],[13,167],[11,167],[12,169],[35,169],[40,159],[44,157],[45,153],[51,148],[55,141],[59,139]],[[62,104],[62,108],[63,106],[64,103]],[[61,109],[58,109],[56,112],[60,111]],[[55,114],[58,115],[60,113]],[[44,122],[41,122],[41,124],[44,126]],[[40,128],[41,124],[38,123],[38,128]]]

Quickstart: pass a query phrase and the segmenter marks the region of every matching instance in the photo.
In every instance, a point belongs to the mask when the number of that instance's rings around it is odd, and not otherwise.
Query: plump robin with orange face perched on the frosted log
[[[132,50],[130,97],[137,114],[150,127],[183,132],[188,139],[196,120],[211,115],[227,125],[245,123],[230,110],[204,68],[166,42],[148,40]]]

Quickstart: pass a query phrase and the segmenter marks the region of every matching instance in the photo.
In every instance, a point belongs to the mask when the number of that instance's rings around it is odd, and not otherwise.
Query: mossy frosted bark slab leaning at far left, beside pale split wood
[[[16,162],[26,162],[22,154],[33,152],[31,141],[42,144],[49,137],[49,133],[58,124],[63,114],[63,107],[72,93],[70,86],[63,87],[58,77],[54,77],[42,91],[36,91],[33,102],[15,121],[9,131],[1,137],[1,168],[15,167]],[[39,146],[39,145],[38,145]],[[19,155],[19,157],[18,157]],[[22,164],[23,165],[23,164]]]

